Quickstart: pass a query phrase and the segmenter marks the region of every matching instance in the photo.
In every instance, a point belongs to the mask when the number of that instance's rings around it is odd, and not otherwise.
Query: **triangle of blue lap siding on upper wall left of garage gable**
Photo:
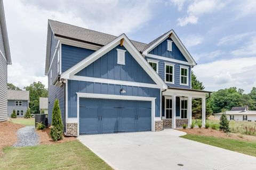
[[[94,50],[61,44],[61,72],[67,71],[70,67],[81,62],[87,56],[94,53]]]

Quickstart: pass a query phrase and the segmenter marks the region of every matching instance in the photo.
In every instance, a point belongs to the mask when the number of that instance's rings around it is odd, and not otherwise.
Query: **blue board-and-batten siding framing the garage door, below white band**
[[[121,94],[121,88],[124,88],[126,93]],[[160,89],[68,80],[68,117],[77,117],[76,92],[84,92],[91,94],[155,97],[155,116],[160,116]]]

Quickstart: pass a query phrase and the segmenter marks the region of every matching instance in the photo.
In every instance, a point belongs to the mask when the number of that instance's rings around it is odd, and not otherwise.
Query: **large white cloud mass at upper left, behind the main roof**
[[[13,62],[9,66],[9,82],[24,87],[39,80],[47,87],[44,75],[47,19],[120,35],[137,31],[148,22],[153,12],[150,5],[117,0],[4,1]]]

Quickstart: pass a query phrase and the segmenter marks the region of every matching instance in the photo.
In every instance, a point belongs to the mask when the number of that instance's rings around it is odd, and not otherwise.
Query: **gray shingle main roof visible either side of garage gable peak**
[[[85,29],[59,21],[49,20],[49,23],[55,36],[81,40],[95,45],[105,46],[117,38],[116,36],[107,33]],[[148,44],[145,43],[133,40],[131,40],[131,42],[139,52],[142,52],[148,47]]]

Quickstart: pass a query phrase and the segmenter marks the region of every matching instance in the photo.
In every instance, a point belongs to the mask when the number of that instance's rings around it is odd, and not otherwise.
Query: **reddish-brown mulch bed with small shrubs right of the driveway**
[[[179,131],[186,132],[188,134],[197,134],[203,136],[211,136],[217,138],[235,139],[235,140],[245,140],[256,142],[256,137],[251,135],[243,135],[238,133],[224,133],[222,131],[205,129],[205,128],[194,128],[194,129],[178,129]]]

